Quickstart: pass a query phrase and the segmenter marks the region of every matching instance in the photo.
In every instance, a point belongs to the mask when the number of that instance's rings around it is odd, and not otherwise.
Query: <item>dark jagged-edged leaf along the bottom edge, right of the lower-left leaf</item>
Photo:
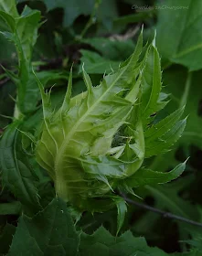
[[[164,251],[151,248],[144,238],[133,237],[132,232],[127,231],[120,237],[113,237],[104,228],[97,229],[92,235],[81,233],[80,256],[165,256]]]

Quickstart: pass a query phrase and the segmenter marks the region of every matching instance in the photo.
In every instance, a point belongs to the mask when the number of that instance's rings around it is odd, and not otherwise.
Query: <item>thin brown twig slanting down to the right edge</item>
[[[147,209],[147,210],[150,210],[150,211],[153,211],[154,213],[157,213],[157,214],[160,214],[162,215],[164,218],[167,218],[167,219],[176,219],[176,220],[179,220],[179,221],[183,221],[183,222],[186,222],[188,224],[191,224],[191,225],[194,225],[194,226],[197,226],[197,227],[201,227],[202,228],[202,223],[199,223],[197,221],[194,221],[194,220],[191,220],[191,219],[186,219],[184,217],[181,217],[181,216],[178,216],[178,215],[175,215],[173,213],[170,213],[170,212],[167,212],[167,211],[164,211],[162,209],[159,209],[159,208],[153,208],[153,207],[150,207],[146,204],[143,204],[143,203],[138,203],[136,201],[134,201],[133,199],[130,199],[128,197],[126,197],[124,194],[121,194],[123,199],[128,202],[129,204],[131,205],[134,205],[138,208],[144,208],[144,209]]]

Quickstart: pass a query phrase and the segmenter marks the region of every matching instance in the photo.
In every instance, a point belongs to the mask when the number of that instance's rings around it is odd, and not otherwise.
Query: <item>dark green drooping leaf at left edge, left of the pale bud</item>
[[[0,141],[0,169],[3,184],[20,200],[28,211],[39,208],[36,176],[20,145],[19,122],[10,124]]]

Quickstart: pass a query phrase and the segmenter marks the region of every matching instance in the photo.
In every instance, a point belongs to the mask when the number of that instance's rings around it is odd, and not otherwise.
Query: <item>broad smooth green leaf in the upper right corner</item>
[[[202,2],[168,0],[166,5],[166,8],[158,10],[156,41],[161,55],[189,70],[201,69]]]

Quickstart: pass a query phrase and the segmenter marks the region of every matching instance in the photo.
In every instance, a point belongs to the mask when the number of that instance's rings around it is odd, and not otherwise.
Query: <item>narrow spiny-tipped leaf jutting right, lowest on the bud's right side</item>
[[[184,172],[185,168],[186,162],[175,166],[173,170],[166,173],[141,168],[133,176],[126,178],[123,184],[126,187],[140,187],[144,185],[167,183],[180,176]]]

